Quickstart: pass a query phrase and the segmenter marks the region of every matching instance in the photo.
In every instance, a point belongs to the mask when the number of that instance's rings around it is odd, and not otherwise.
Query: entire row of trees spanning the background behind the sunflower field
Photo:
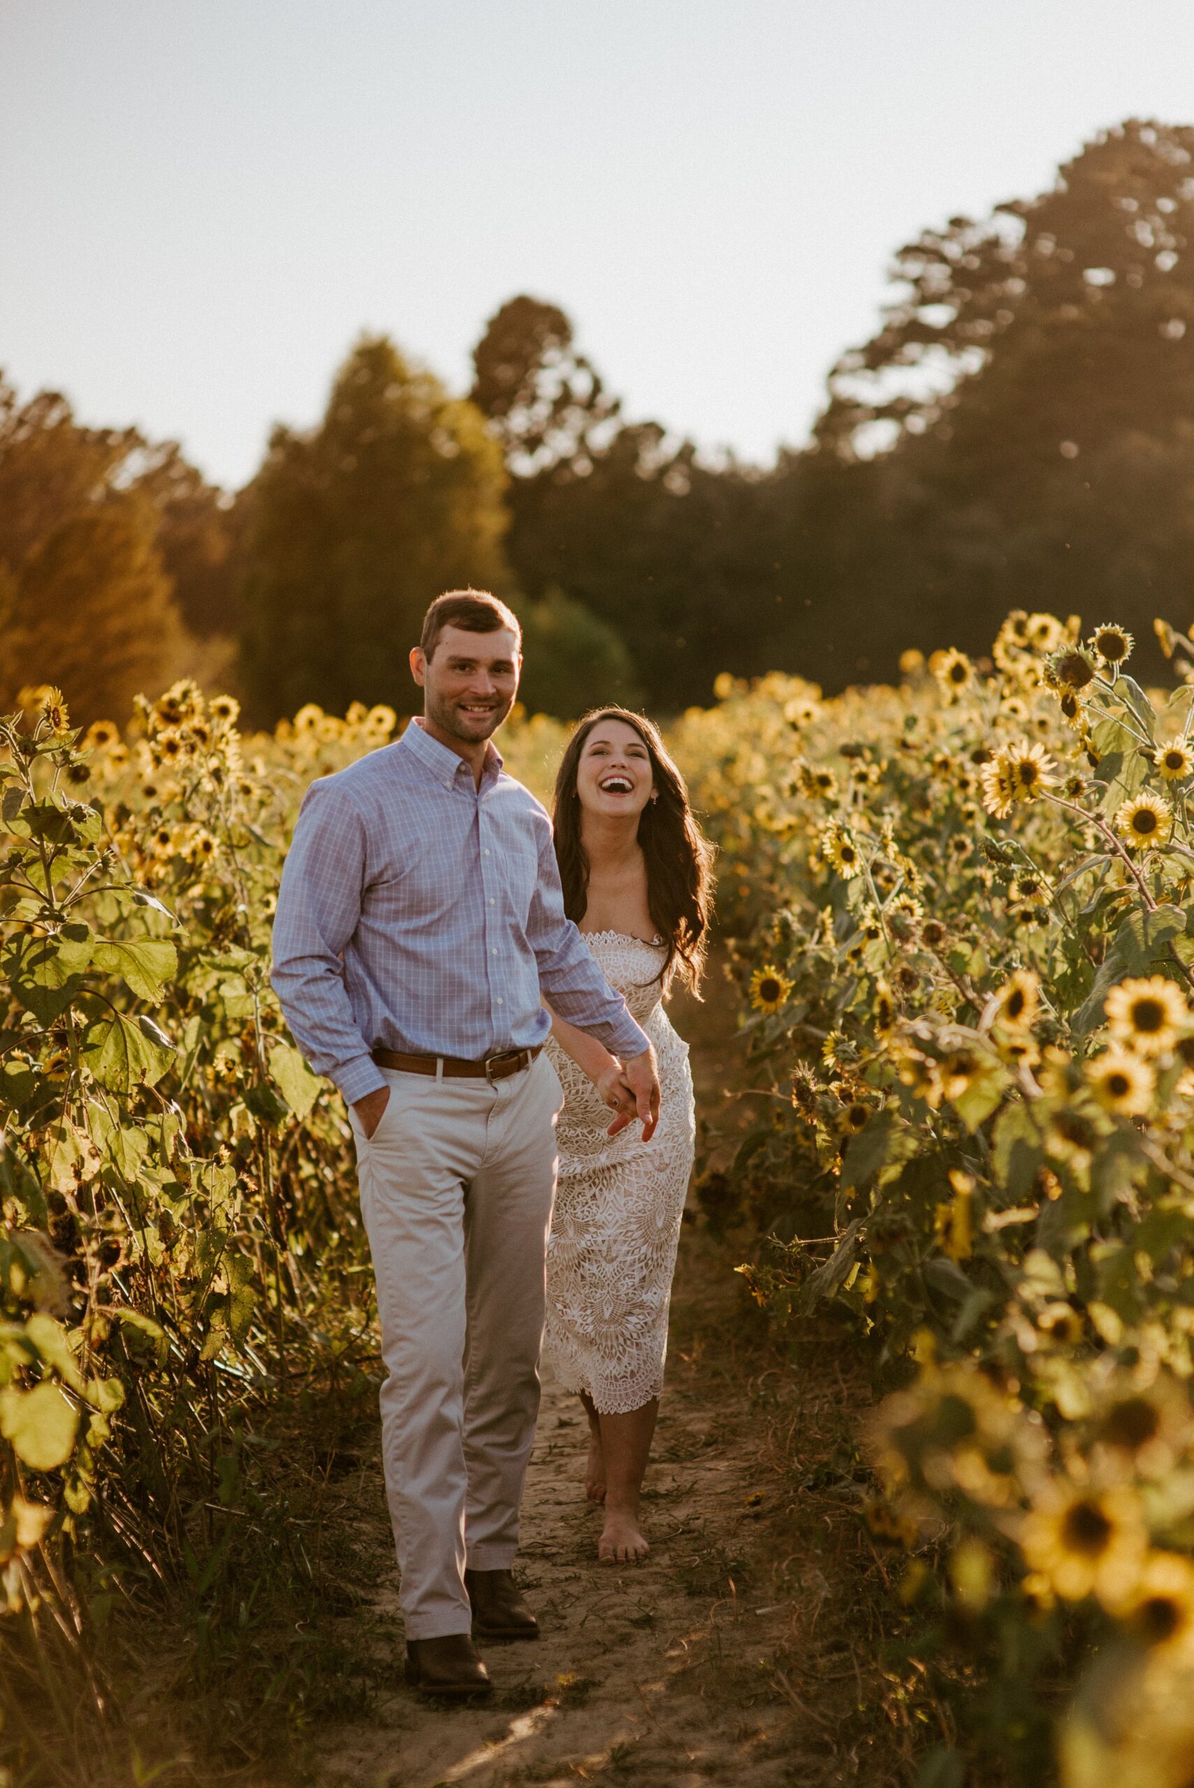
[[[570,318],[520,295],[452,395],[363,338],[311,429],[222,492],[177,445],[0,381],[0,699],[123,715],[179,667],[272,722],[406,696],[441,588],[506,595],[526,699],[667,713],[713,679],[890,678],[1008,608],[1130,626],[1194,588],[1194,127],[1130,120],[1033,198],[899,250],[808,447],[704,458],[631,420]]]

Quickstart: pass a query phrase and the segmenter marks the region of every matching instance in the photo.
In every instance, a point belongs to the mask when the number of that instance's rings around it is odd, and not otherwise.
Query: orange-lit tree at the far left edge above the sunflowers
[[[0,377],[0,704],[55,683],[75,719],[123,721],[186,669],[136,429],[89,429]]]

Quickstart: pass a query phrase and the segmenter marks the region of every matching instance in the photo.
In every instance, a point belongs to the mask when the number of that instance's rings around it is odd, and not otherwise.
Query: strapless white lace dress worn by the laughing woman
[[[640,1409],[663,1389],[667,1314],[681,1212],[692,1175],[695,1116],[688,1044],[661,1003],[661,944],[618,932],[584,939],[624,994],[660,1058],[660,1125],[606,1135],[613,1114],[570,1055],[549,1039],[563,1084],[556,1126],[559,1189],[547,1243],[545,1350],[568,1391],[602,1414]]]

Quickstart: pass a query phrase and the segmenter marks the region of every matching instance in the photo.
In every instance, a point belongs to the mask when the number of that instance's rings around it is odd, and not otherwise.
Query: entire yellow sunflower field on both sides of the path
[[[1194,1779],[1194,642],[1158,638],[1171,690],[1123,628],[1013,613],[988,662],[722,678],[670,728],[760,1112],[699,1191],[795,1370],[828,1312],[887,1391],[862,1520],[942,1724],[922,1788]],[[263,1582],[343,1591],[277,1421],[327,1459],[372,1420],[372,1277],[268,939],[307,783],[397,724],[250,737],[188,683],[0,721],[9,1720],[102,1709],[114,1616],[179,1597],[188,1681],[318,1706],[245,1634]],[[542,797],[565,737],[502,735]]]

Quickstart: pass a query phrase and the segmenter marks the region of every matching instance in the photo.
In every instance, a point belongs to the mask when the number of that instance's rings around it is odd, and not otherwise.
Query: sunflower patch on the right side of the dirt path
[[[722,679],[676,735],[749,939],[740,1271],[894,1386],[865,1518],[947,1691],[926,1783],[1194,1779],[1194,644],[1156,631],[1173,690],[1013,613],[981,665]]]

